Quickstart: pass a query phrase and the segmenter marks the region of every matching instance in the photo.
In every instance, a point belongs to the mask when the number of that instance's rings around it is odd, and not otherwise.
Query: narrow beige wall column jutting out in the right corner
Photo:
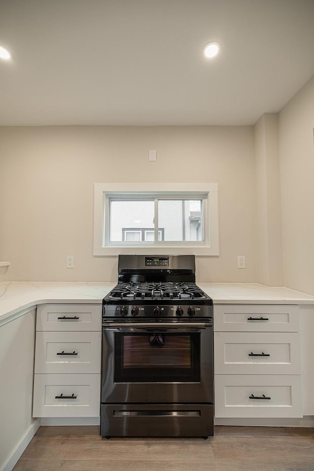
[[[256,159],[257,280],[282,286],[278,115],[263,114],[254,127]]]

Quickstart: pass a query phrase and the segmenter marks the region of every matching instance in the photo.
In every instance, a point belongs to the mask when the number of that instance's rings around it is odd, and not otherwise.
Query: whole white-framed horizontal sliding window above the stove
[[[95,183],[94,255],[218,255],[217,184]]]

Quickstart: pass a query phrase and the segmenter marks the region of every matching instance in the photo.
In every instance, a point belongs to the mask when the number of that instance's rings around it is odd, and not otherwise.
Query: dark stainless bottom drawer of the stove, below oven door
[[[208,437],[213,435],[213,405],[101,404],[100,433],[103,437]]]

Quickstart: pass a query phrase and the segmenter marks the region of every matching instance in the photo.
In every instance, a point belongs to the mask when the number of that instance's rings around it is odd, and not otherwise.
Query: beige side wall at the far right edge
[[[279,114],[284,283],[314,294],[314,77]]]

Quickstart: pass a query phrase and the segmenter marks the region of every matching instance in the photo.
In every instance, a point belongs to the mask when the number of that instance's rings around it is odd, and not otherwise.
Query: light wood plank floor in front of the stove
[[[314,471],[314,429],[216,426],[203,439],[100,437],[40,427],[14,471]]]

